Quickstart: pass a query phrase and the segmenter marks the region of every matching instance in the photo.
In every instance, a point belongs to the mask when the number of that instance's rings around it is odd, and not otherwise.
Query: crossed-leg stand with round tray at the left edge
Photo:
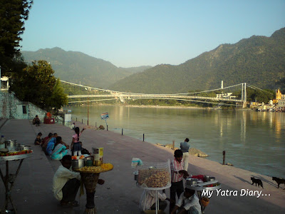
[[[16,177],[19,173],[19,170],[21,168],[21,165],[22,165],[24,159],[29,158],[31,156],[33,156],[32,151],[30,153],[16,155],[16,156],[0,156],[0,161],[6,161],[6,175],[5,176],[3,175],[1,168],[0,168],[1,180],[3,181],[4,186],[5,186],[5,203],[4,203],[3,208],[1,209],[1,214],[10,212],[10,210],[8,210],[9,201],[12,205],[14,213],[17,213],[16,207],[15,207],[13,200],[12,200],[12,197],[11,197],[11,190],[14,186]],[[20,161],[18,168],[16,170],[16,174],[11,174],[11,173],[9,174],[9,162],[10,161]],[[10,187],[9,187],[9,183],[10,183]]]

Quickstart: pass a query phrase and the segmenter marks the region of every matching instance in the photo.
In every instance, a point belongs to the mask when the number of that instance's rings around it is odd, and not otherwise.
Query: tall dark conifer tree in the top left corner
[[[14,70],[15,58],[21,57],[19,42],[31,4],[32,0],[0,1],[0,66],[4,71]]]

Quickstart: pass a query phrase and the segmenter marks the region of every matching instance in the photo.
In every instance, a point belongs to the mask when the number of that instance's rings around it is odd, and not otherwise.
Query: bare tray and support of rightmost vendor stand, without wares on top
[[[195,185],[185,185],[186,188],[189,188],[191,190],[197,190],[197,195],[199,198],[199,203],[201,205],[201,211],[204,213],[204,209],[206,208],[207,205],[202,203],[202,198],[204,195],[202,195],[203,191],[208,190],[208,191],[213,191],[213,190],[219,190],[221,188],[221,184],[219,183],[218,180],[212,180],[208,182],[203,182],[203,183],[197,183]]]

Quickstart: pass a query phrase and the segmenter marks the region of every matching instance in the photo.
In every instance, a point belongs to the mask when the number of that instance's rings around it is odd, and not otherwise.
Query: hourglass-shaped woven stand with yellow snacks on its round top
[[[84,214],[95,213],[94,195],[95,188],[99,179],[100,173],[105,173],[113,170],[113,165],[110,163],[108,168],[102,168],[100,166],[88,166],[83,168],[73,169],[81,174],[81,179],[86,189],[86,210]]]

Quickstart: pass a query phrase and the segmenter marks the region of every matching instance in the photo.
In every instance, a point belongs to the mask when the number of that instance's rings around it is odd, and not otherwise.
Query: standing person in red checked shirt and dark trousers
[[[182,161],[183,153],[180,149],[175,150],[174,160],[171,161],[171,187],[170,187],[170,211],[175,205],[176,194],[179,198],[184,191],[182,178],[187,178],[189,174],[184,170],[184,163]]]

